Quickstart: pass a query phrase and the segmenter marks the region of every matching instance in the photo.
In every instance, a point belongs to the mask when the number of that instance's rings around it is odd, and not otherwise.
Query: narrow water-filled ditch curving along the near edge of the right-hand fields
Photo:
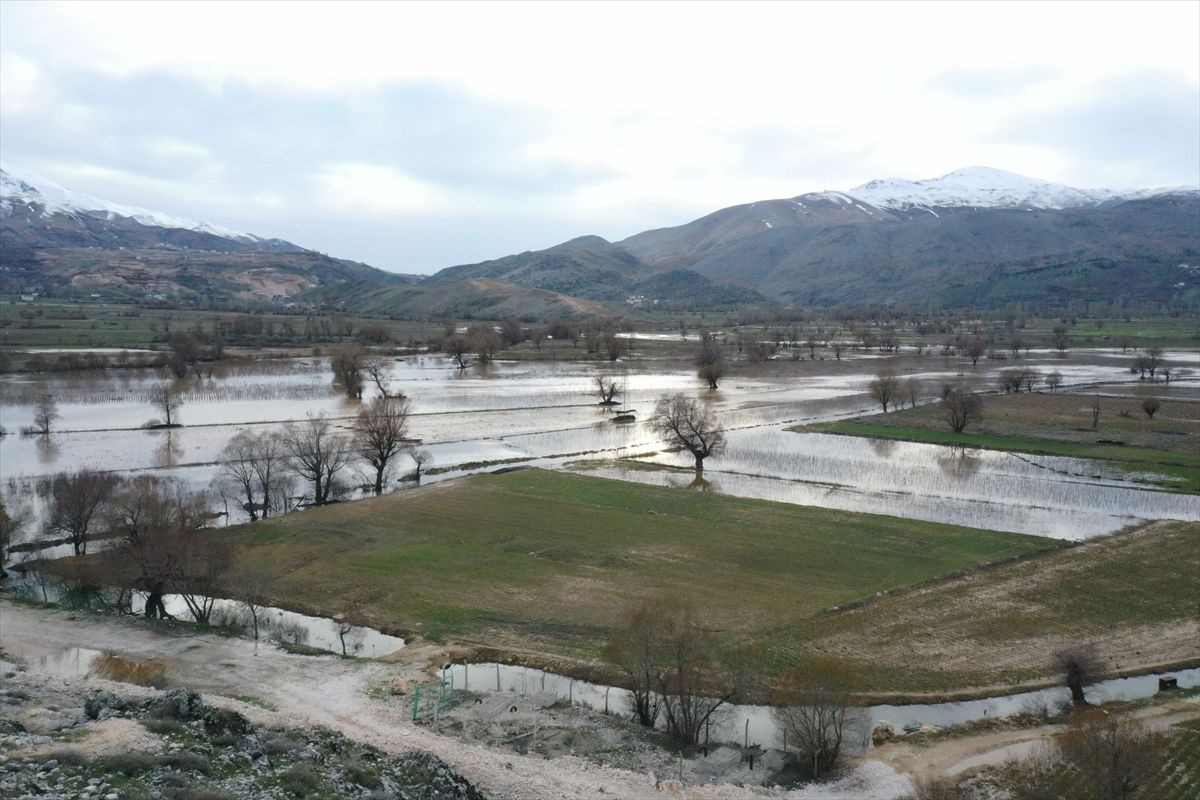
[[[497,663],[452,664],[444,673],[445,680],[455,688],[473,692],[553,692],[556,697],[576,705],[614,714],[629,710],[629,691],[617,686],[605,686],[564,675]],[[1180,688],[1200,686],[1200,669],[1134,678],[1117,678],[1088,686],[1085,694],[1091,703],[1134,700],[1158,692],[1159,676],[1174,676]],[[864,709],[859,730],[859,747],[870,746],[870,734],[876,724],[888,722],[899,732],[906,726],[947,727],[978,720],[1012,716],[1021,712],[1055,711],[1069,703],[1066,687],[1043,688],[1016,694],[1002,694],[956,703],[925,703],[911,705],[871,705]],[[775,722],[774,709],[769,705],[730,705],[718,714],[710,730],[714,742],[749,742],[764,748],[780,748],[782,734]]]

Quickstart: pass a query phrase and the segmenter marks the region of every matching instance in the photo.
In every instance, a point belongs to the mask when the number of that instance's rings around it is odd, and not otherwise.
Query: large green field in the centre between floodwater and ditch
[[[442,642],[596,658],[632,604],[684,597],[728,645],[1057,542],[522,470],[234,528],[283,604]]]

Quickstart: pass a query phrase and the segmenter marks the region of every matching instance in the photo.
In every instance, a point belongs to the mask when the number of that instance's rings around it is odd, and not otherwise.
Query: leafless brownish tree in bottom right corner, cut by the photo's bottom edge
[[[1076,715],[1058,750],[1075,768],[1084,796],[1096,800],[1146,796],[1142,790],[1166,760],[1166,748],[1136,721],[1103,710]]]

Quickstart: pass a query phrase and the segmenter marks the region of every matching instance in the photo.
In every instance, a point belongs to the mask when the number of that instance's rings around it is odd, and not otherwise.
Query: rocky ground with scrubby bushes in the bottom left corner
[[[84,688],[4,663],[0,795],[62,800],[298,796],[482,800],[444,762],[328,728],[254,724],[176,688]]]

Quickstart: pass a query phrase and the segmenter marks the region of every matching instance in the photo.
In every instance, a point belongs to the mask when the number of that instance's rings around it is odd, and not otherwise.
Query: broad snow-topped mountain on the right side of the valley
[[[1111,192],[988,168],[731,206],[618,242],[796,305],[1200,302],[1200,191]]]

